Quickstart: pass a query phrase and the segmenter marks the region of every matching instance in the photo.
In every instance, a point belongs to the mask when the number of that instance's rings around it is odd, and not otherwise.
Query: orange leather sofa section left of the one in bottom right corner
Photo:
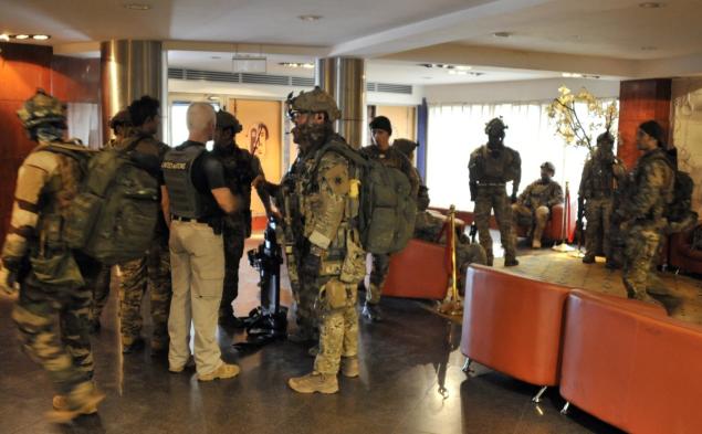
[[[558,384],[563,313],[569,290],[471,265],[461,351],[470,360],[527,383]]]

